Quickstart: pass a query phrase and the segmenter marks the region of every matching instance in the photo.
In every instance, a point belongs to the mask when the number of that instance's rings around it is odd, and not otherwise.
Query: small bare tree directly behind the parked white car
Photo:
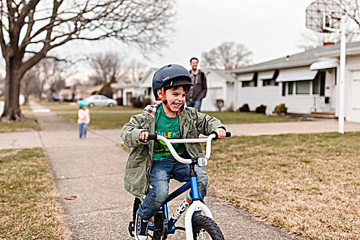
[[[120,77],[124,75],[122,62],[122,57],[117,53],[107,52],[93,56],[90,60],[90,66],[94,74],[89,76],[89,82],[93,85],[118,82]]]

